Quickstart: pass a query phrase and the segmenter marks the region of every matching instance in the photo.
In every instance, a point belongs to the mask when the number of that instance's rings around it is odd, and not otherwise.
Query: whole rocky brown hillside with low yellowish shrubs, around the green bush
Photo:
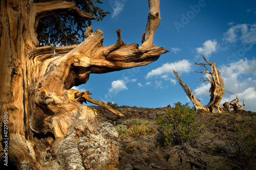
[[[197,119],[203,127],[199,136],[167,147],[162,128],[155,122],[170,106],[115,106],[125,115],[121,118],[102,107],[90,107],[97,111],[100,122],[119,128],[119,169],[256,169],[255,112],[198,112]],[[129,130],[128,124],[135,122],[138,126]]]

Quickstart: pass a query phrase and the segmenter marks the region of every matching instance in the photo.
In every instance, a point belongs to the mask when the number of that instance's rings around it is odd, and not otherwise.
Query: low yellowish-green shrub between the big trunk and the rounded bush
[[[142,136],[154,135],[157,132],[153,123],[148,120],[130,119],[114,127],[121,139],[139,138]]]

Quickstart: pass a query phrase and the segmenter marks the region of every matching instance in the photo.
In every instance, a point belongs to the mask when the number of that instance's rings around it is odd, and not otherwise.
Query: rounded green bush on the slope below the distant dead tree
[[[200,131],[201,122],[197,120],[197,113],[188,103],[175,103],[174,108],[166,111],[164,116],[157,118],[157,125],[163,128],[164,144],[181,144],[191,142]]]

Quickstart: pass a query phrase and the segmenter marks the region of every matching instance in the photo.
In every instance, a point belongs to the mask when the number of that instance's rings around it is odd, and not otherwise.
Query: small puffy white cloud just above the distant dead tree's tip
[[[207,40],[203,43],[203,47],[196,48],[198,54],[209,57],[211,53],[216,52],[218,42],[216,40]]]

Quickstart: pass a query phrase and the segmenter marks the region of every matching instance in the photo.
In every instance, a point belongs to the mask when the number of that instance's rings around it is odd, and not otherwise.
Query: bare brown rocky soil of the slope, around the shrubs
[[[170,106],[162,108],[116,107],[115,109],[125,115],[121,118],[102,107],[90,107],[97,111],[100,122],[110,122],[116,126],[124,120],[133,118],[155,122],[156,118],[165,114]],[[222,114],[202,112],[198,113],[198,117],[206,126],[193,147],[188,143],[166,147],[163,144],[159,127],[158,133],[154,136],[120,140],[119,169],[256,169],[255,152],[251,153],[249,160],[246,160],[248,162],[240,161],[237,155],[234,156],[232,149],[236,148],[232,148],[229,140],[236,135],[238,125],[244,125],[246,132],[255,132],[255,112],[239,111]],[[248,166],[244,166],[244,163]]]

